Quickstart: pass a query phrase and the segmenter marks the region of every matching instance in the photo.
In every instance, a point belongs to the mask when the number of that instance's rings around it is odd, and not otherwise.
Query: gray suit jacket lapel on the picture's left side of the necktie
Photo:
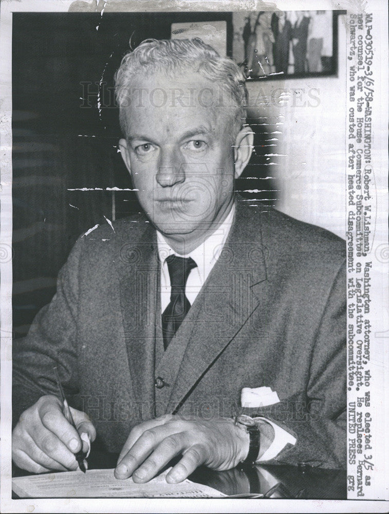
[[[155,316],[159,277],[155,230],[151,224],[147,224],[136,242],[122,243],[116,264],[128,367],[134,397],[147,412],[147,406],[154,404]],[[150,414],[153,415],[153,412]]]

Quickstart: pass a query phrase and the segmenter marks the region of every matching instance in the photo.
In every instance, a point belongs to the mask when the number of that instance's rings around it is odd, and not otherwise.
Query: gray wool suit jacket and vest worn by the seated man
[[[14,343],[14,423],[57,394],[59,363],[71,403],[109,451],[141,420],[264,415],[297,436],[272,463],[346,462],[345,244],[261,205],[237,202],[225,248],[166,352],[156,232],[143,215],[79,239],[57,293]],[[155,387],[155,378],[164,387]],[[242,388],[281,402],[243,409]]]

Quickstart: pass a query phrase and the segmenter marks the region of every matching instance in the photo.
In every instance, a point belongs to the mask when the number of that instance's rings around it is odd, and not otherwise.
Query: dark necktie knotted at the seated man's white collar
[[[174,254],[166,257],[166,264],[169,269],[171,293],[170,303],[162,313],[162,335],[165,350],[191,307],[185,296],[185,286],[189,272],[197,267],[191,257],[179,257]]]

